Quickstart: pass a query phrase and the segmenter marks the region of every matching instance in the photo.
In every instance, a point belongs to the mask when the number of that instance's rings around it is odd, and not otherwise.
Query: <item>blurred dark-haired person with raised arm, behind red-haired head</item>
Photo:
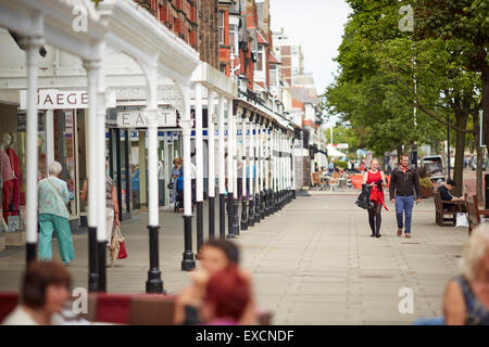
[[[175,306],[175,324],[199,324],[204,322],[202,304],[206,286],[213,274],[229,267],[236,267],[252,287],[251,274],[239,269],[239,249],[227,240],[211,240],[200,252],[200,267],[192,271],[191,283],[178,294]],[[256,310],[253,299],[248,301],[240,324],[254,324]]]

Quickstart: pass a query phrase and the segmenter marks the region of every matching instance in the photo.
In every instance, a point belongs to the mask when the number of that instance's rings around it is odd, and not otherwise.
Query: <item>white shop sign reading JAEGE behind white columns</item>
[[[106,107],[115,107],[115,92],[108,92]],[[21,90],[21,110],[27,108],[27,90]],[[37,93],[38,110],[88,108],[86,90],[41,89]]]

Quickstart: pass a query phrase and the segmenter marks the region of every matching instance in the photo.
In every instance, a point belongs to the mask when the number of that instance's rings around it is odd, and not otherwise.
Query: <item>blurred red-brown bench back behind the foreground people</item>
[[[17,293],[0,293],[0,322],[17,305]],[[105,294],[88,295],[87,313],[80,313],[90,322],[129,325],[173,325],[174,295],[162,294]],[[271,325],[273,313],[258,312],[260,325]]]

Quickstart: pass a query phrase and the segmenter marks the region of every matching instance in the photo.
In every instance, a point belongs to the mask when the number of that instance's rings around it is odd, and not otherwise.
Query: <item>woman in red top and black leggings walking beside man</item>
[[[374,208],[368,208],[368,222],[372,229],[372,237],[380,237],[380,211],[383,206],[387,210],[387,206],[384,202],[384,189],[386,185],[386,176],[378,169],[378,160],[372,159],[371,169],[363,175],[363,184],[371,187],[371,201],[374,203]]]

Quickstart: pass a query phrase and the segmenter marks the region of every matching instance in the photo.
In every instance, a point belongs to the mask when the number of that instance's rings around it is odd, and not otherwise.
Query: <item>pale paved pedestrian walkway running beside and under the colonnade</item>
[[[367,214],[354,201],[355,195],[311,192],[236,240],[243,266],[253,273],[259,306],[275,313],[275,324],[411,324],[418,317],[442,313],[444,286],[457,271],[466,228],[435,226],[434,203],[427,200],[414,208],[413,237],[397,237],[393,205],[388,203],[383,237],[372,239]],[[129,257],[108,269],[109,292],[145,291],[147,217],[143,213],[122,224]],[[162,278],[164,287],[176,293],[189,281],[189,273],[180,271],[183,219],[163,210],[160,218]],[[87,235],[74,235],[74,286],[86,287]],[[54,243],[59,258],[55,248]],[[0,253],[0,291],[17,290],[24,259],[23,247]],[[399,312],[402,287],[413,291],[413,314]]]

